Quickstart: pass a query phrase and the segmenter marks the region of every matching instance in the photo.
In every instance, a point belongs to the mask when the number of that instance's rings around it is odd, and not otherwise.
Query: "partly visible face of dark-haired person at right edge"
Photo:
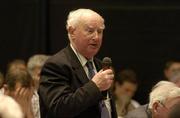
[[[166,78],[169,80],[175,71],[180,70],[180,63],[173,63],[168,69],[164,71]]]

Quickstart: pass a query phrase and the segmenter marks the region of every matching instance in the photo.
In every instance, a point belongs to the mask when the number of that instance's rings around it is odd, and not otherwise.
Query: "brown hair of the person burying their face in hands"
[[[22,87],[30,88],[32,81],[27,69],[10,69],[5,76],[5,84],[9,90],[14,90],[17,83],[20,83]]]

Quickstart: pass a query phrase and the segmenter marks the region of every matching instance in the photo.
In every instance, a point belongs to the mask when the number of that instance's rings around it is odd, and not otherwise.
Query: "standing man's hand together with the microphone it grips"
[[[105,57],[102,61],[103,69],[92,78],[92,81],[97,85],[100,91],[105,91],[111,87],[114,78],[114,73],[112,69],[110,69],[111,65],[111,59]]]

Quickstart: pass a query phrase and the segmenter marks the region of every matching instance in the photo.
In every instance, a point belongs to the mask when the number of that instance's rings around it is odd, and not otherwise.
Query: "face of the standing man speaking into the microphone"
[[[88,59],[96,55],[101,47],[103,27],[103,20],[96,14],[81,17],[81,22],[71,32],[75,49]]]

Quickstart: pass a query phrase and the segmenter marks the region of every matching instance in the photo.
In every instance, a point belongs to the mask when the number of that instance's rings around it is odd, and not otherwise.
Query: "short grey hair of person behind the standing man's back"
[[[42,67],[49,57],[50,56],[44,54],[36,54],[29,58],[27,69],[31,76],[33,76],[33,70],[36,67]]]

